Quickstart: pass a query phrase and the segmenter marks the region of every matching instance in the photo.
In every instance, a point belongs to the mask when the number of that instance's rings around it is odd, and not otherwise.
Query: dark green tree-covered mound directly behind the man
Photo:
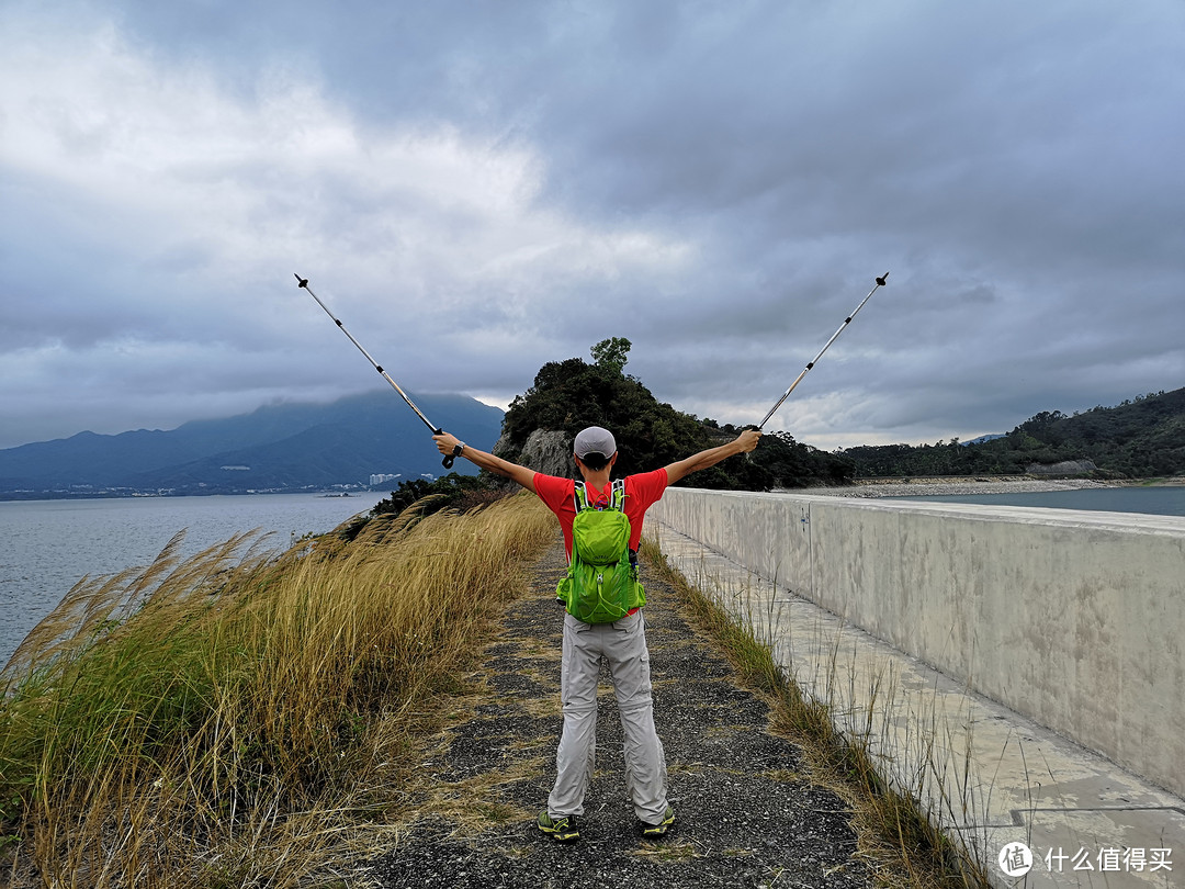
[[[629,340],[614,337],[592,347],[596,364],[579,358],[545,364],[534,384],[510,407],[502,431],[513,453],[536,429],[576,435],[602,426],[617,440],[620,478],[656,469],[698,450],[731,441],[739,429],[699,421],[660,403],[640,380],[622,373]],[[513,454],[511,456],[513,459]],[[688,487],[768,491],[773,487],[840,484],[852,465],[799,444],[784,433],[762,439],[751,458],[735,456],[680,482]]]

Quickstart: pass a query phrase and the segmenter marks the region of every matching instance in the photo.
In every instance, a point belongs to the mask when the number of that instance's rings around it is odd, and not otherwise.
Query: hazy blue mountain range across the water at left
[[[488,449],[502,411],[460,395],[414,395],[462,441]],[[273,404],[168,431],[79,433],[0,450],[0,499],[366,488],[446,474],[431,433],[391,391],[329,404]],[[457,461],[454,471],[475,473]]]

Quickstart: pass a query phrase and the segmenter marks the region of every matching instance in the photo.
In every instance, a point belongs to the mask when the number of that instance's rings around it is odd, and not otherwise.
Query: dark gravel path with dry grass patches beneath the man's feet
[[[449,728],[423,763],[417,820],[372,862],[374,884],[396,887],[811,887],[873,885],[850,813],[802,772],[799,749],[768,731],[768,706],[679,613],[674,591],[647,583],[655,721],[677,820],[642,842],[626,798],[621,727],[603,676],[597,769],[582,838],[561,845],[534,826],[555,779],[559,736],[564,571],[558,538],[531,591],[506,610]],[[643,569],[645,574],[645,569]]]

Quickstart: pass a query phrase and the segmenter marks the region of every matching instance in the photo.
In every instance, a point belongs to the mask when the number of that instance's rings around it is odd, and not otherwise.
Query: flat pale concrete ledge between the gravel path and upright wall
[[[750,620],[884,773],[978,850],[993,884],[1185,887],[1185,801],[979,695],[656,520],[671,564]],[[1174,702],[1179,703],[1179,702]],[[1032,866],[1025,874],[1025,844]],[[1008,876],[998,863],[1003,850]]]

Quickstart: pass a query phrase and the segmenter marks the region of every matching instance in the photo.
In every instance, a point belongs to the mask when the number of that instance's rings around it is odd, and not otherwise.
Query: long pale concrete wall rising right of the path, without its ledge
[[[1185,794],[1185,519],[688,488],[649,516]]]

